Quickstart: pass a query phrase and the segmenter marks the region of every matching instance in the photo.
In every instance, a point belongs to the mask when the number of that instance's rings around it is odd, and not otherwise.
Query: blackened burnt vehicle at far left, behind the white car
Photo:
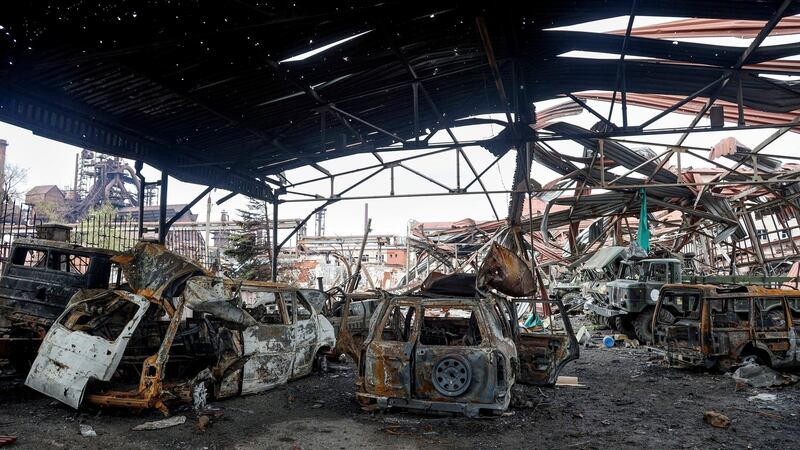
[[[112,250],[17,238],[0,277],[0,358],[27,370],[41,339],[79,290],[120,283]]]

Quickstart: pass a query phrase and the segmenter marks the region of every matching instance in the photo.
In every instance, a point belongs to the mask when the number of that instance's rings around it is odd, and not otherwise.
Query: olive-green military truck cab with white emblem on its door
[[[611,328],[650,343],[659,290],[667,283],[680,283],[682,269],[674,258],[623,261],[617,279],[606,283],[606,295],[594,296],[586,308],[607,318]]]

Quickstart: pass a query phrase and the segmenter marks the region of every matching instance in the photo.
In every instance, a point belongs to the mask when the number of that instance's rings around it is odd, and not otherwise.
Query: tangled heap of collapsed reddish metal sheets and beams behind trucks
[[[568,123],[549,128],[593,133]],[[786,261],[797,259],[800,165],[759,155],[733,138],[706,150],[708,157],[687,150],[709,161],[712,167],[706,168],[664,167],[664,153],[629,148],[616,140],[576,142],[585,149],[581,158],[567,158],[537,144],[534,160],[561,177],[526,199],[518,225],[462,221],[447,230],[412,230],[412,245],[422,255],[409,270],[412,280],[432,270],[475,270],[475,252],[485,254],[492,241],[513,244],[508,234],[513,229],[526,244],[520,254],[532,246],[539,267],[553,266],[555,277],[563,267],[577,268],[601,248],[632,242],[643,196],[652,252],[681,259],[691,255],[694,273],[746,269],[779,275],[787,270]],[[721,158],[744,167],[729,169],[717,161]],[[611,172],[618,167],[627,173]],[[647,179],[653,183],[644,183]],[[456,253],[454,243],[464,251]]]

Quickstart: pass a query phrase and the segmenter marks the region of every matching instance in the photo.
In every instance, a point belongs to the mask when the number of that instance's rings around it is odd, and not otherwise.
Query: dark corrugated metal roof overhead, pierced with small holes
[[[636,4],[637,2],[634,2]],[[782,1],[639,2],[636,14],[767,21]],[[546,31],[627,15],[630,1],[541,4],[67,1],[16,5],[0,30],[0,120],[45,137],[142,160],[179,179],[269,198],[287,169],[371,152],[508,111],[492,86],[482,18],[511,103],[616,88],[688,95],[723,76],[742,49],[645,37]],[[751,63],[800,53],[761,47]],[[665,62],[666,61],[666,62]],[[747,70],[742,70],[742,73]],[[743,77],[744,104],[800,108],[793,82]],[[719,98],[735,102],[737,88]],[[414,100],[416,99],[416,101]]]

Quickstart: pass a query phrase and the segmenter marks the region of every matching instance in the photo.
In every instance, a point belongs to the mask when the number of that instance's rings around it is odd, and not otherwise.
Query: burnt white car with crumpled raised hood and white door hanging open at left
[[[134,292],[72,302],[39,350],[26,385],[82,403],[167,411],[271,389],[325,364],[333,327],[273,283],[211,277],[156,244],[117,259]]]

